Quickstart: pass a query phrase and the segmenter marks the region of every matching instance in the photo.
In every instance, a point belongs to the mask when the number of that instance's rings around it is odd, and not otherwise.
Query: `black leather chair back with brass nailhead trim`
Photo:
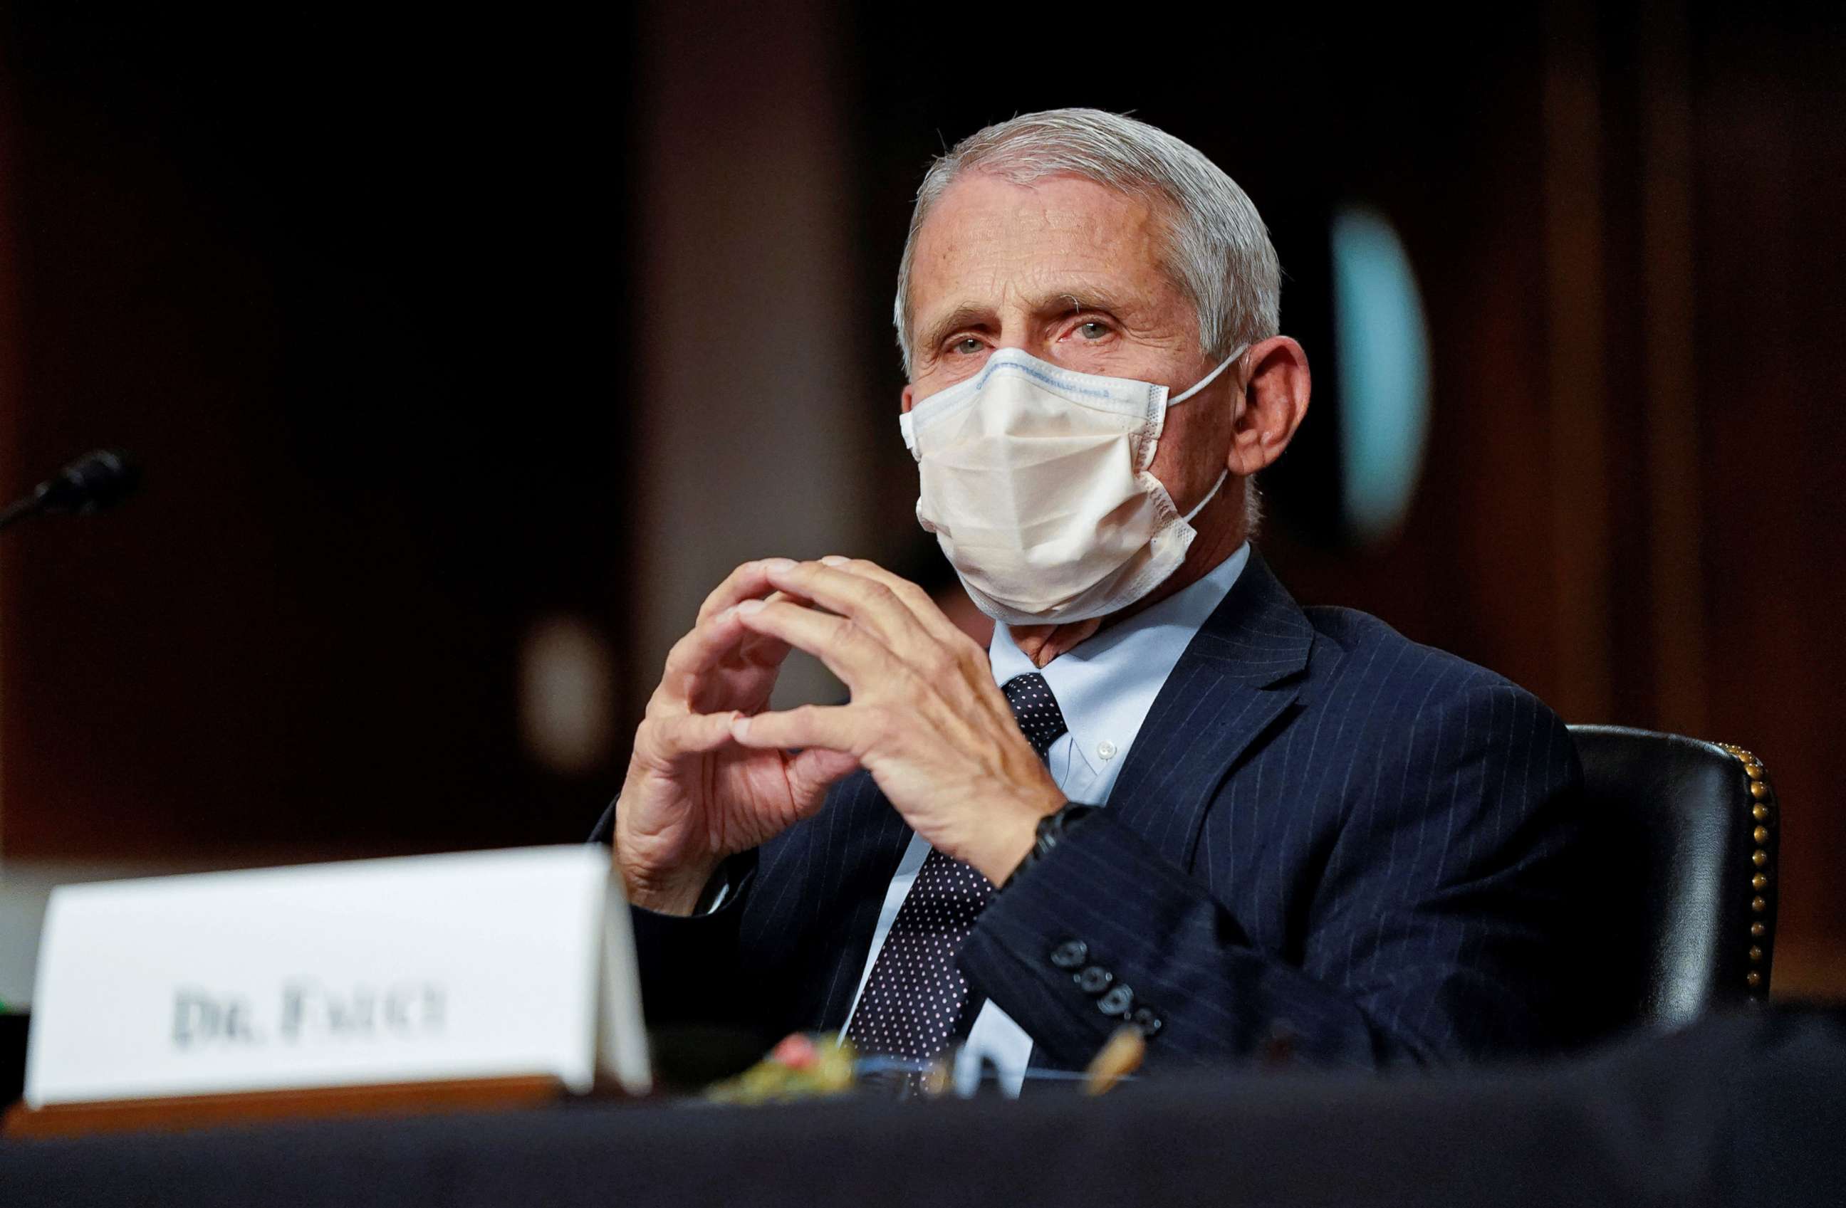
[[[1780,810],[1741,747],[1573,725],[1606,883],[1597,953],[1630,1024],[1676,1027],[1768,998]],[[1600,911],[1599,911],[1600,913]]]

